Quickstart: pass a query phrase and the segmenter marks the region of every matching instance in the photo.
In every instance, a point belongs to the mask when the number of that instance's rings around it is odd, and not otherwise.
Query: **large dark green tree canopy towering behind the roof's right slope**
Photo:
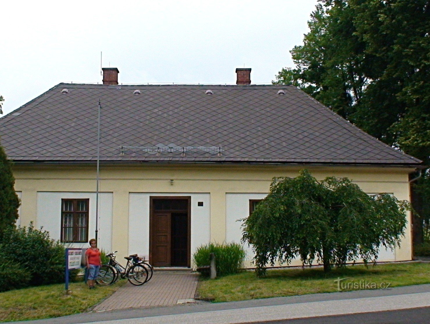
[[[430,163],[430,1],[320,0],[276,76]]]

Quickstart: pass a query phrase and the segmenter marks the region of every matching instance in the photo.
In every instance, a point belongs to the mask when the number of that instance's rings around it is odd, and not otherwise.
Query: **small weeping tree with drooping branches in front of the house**
[[[400,244],[407,201],[389,194],[369,196],[347,178],[318,182],[307,170],[296,178],[276,178],[270,193],[244,219],[242,241],[252,245],[258,276],[267,264],[299,256],[324,271],[361,258],[375,261],[380,246]]]

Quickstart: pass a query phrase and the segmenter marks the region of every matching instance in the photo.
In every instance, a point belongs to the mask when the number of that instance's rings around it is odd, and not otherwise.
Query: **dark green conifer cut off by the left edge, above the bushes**
[[[0,145],[0,234],[18,219],[19,199],[14,189],[12,162]]]

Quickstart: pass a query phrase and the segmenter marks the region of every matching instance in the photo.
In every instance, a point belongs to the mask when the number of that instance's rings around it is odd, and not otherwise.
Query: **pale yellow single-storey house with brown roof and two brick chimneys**
[[[119,85],[118,69],[103,71],[103,85],[61,83],[0,119],[21,226],[74,247],[97,233],[106,251],[190,267],[199,245],[240,241],[238,220],[273,177],[307,168],[409,200],[421,161],[298,88],[250,85],[251,69],[237,69],[237,85]],[[401,247],[379,261],[411,260],[407,217]]]

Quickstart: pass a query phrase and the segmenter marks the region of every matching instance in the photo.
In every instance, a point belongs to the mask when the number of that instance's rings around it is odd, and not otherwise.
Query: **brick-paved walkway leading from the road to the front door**
[[[127,282],[92,310],[176,305],[178,300],[194,298],[198,280],[196,273],[155,271],[149,282],[141,286]]]

